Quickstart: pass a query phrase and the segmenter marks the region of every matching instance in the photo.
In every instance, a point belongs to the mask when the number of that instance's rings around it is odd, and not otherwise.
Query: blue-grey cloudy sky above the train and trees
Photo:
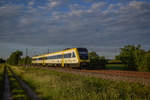
[[[0,0],[0,57],[85,47],[114,58],[125,45],[150,49],[150,0]],[[49,49],[48,49],[49,48]]]

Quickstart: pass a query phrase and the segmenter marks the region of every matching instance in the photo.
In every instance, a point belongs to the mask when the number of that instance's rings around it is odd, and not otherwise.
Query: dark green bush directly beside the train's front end
[[[99,56],[96,52],[89,52],[90,65],[93,67],[105,68],[106,59],[104,56]]]

